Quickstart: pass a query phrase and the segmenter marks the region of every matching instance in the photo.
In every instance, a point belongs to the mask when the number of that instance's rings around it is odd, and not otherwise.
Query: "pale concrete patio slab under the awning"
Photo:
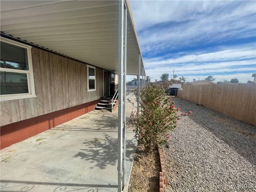
[[[127,128],[126,183],[136,148]],[[1,191],[117,191],[117,155],[117,111],[92,111],[1,150]]]

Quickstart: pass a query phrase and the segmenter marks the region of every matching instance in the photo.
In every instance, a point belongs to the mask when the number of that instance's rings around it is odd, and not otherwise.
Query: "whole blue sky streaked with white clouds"
[[[130,1],[151,81],[169,73],[187,81],[253,80],[256,1]],[[130,77],[131,78],[131,77]]]

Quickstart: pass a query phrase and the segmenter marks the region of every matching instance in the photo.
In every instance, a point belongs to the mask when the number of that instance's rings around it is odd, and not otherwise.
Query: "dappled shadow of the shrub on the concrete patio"
[[[108,165],[115,166],[118,158],[117,138],[103,133],[104,139],[95,138],[93,141],[83,142],[85,148],[81,149],[74,157],[79,157],[90,163],[95,163],[100,169],[105,169]],[[133,139],[126,139],[126,161],[133,161],[135,142]],[[93,169],[93,167],[90,167]]]

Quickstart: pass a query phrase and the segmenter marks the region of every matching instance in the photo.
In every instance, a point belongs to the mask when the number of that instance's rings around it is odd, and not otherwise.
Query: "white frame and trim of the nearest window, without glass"
[[[23,43],[15,42],[4,37],[0,37],[0,41],[27,49],[28,69],[29,69],[29,70],[19,70],[19,69],[0,68],[0,71],[13,72],[13,73],[26,73],[27,79],[28,79],[28,93],[0,95],[0,101],[35,98],[36,93],[35,93],[35,83],[34,83],[34,74],[33,74],[33,65],[32,65],[31,46]]]

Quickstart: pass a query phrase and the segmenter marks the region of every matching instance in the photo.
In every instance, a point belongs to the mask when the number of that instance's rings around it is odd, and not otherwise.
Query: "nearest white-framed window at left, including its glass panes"
[[[1,101],[36,97],[31,46],[0,39]]]

